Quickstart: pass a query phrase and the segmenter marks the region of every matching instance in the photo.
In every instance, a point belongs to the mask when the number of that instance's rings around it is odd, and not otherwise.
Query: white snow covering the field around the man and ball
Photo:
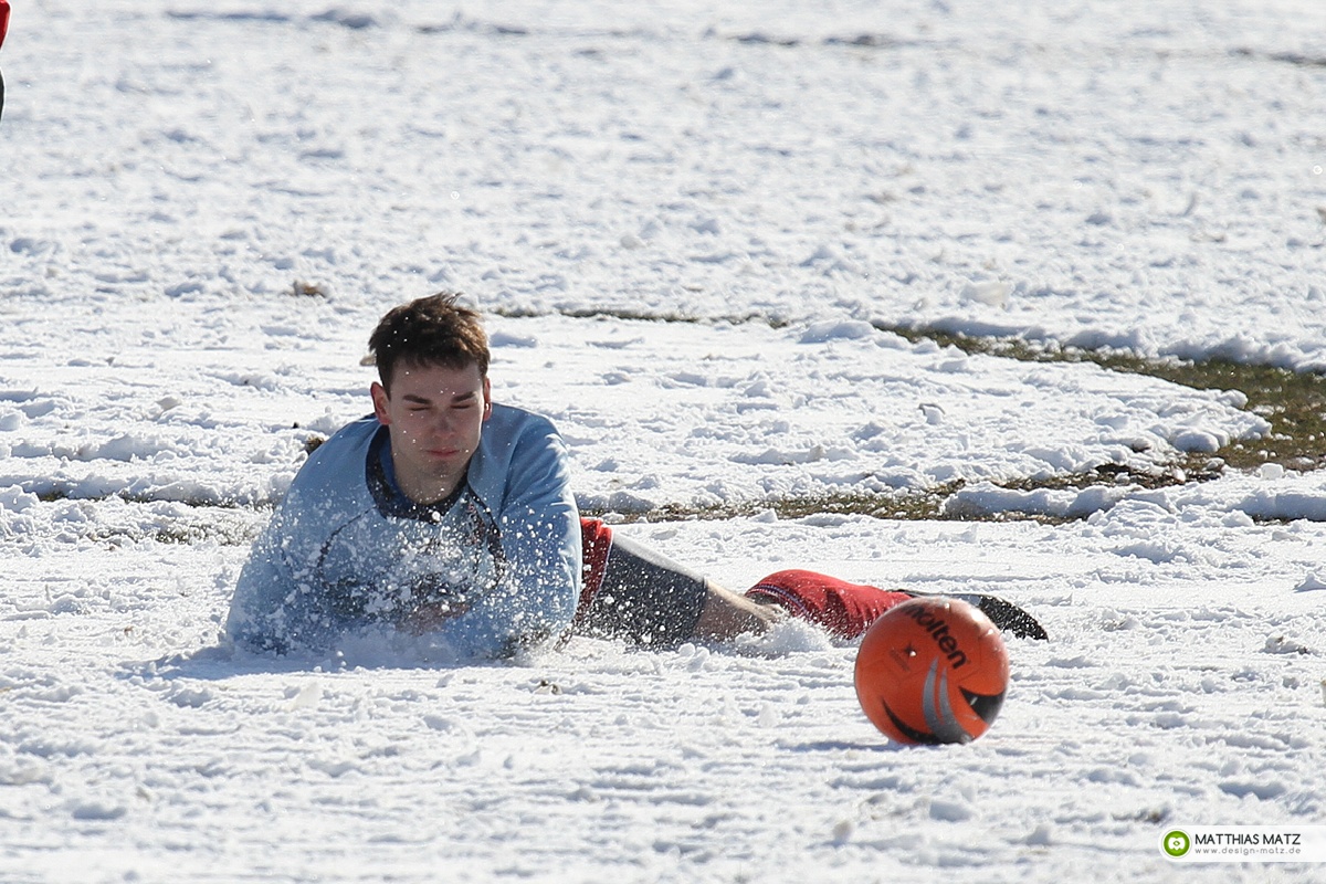
[[[1326,367],[1317,0],[34,0],[0,68],[0,880],[1326,880],[1159,851],[1326,823],[1326,476],[1004,492],[1269,425],[880,330]],[[754,513],[619,530],[1032,610],[989,734],[888,744],[796,624],[231,652],[369,330],[440,288],[583,505]],[[1073,518],[772,509],[957,480]]]

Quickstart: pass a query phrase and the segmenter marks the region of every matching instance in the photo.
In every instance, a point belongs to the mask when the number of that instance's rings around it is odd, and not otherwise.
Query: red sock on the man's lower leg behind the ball
[[[747,590],[747,595],[761,602],[777,602],[789,614],[810,620],[841,639],[855,639],[880,614],[912,598],[899,590],[880,590],[798,570],[770,574]]]

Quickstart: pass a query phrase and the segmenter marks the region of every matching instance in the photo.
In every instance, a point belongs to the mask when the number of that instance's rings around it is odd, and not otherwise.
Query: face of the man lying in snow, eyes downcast
[[[465,477],[479,448],[492,396],[479,366],[464,368],[403,363],[391,378],[391,395],[373,384],[373,410],[391,433],[396,482],[416,504],[435,504]]]

